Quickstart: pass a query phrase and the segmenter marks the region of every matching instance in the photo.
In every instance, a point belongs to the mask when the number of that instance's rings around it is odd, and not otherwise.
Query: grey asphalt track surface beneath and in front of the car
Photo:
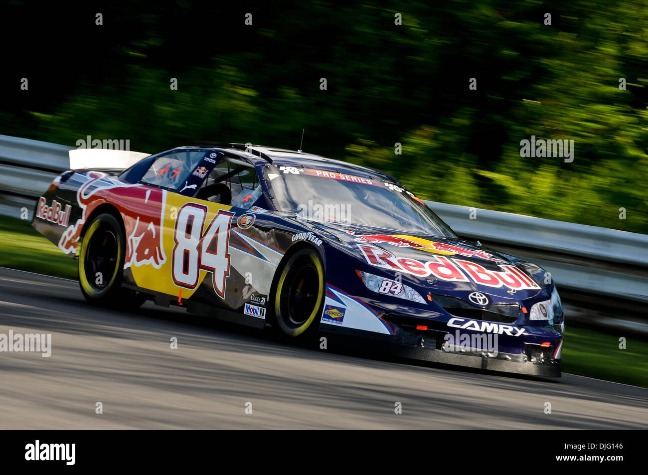
[[[179,308],[93,308],[75,281],[0,268],[9,330],[51,333],[52,354],[0,353],[0,429],[648,426],[648,389],[296,347]]]

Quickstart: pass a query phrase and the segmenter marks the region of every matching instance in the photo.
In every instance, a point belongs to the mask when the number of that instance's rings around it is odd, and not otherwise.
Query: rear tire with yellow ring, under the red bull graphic
[[[98,214],[87,226],[78,258],[81,293],[102,307],[132,309],[146,295],[122,288],[126,237],[121,223],[110,213]]]

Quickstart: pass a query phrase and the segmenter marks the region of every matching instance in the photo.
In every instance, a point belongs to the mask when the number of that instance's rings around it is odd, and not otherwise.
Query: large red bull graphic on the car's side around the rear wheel
[[[124,218],[124,269],[145,264],[159,269],[167,261],[161,232],[167,192],[139,184],[129,185],[100,172],[88,172],[86,176],[88,181],[76,193],[76,202],[82,210],[81,216],[73,226],[65,230],[58,247],[65,253],[75,253],[88,216],[98,205],[113,203]],[[121,190],[119,194],[115,194],[114,191],[118,188]]]

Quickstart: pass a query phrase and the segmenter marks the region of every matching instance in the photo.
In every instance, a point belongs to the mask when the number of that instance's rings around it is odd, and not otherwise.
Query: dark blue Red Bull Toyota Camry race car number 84
[[[77,259],[92,304],[150,299],[295,340],[561,375],[548,273],[459,238],[388,174],[235,143],[70,157],[32,226]]]

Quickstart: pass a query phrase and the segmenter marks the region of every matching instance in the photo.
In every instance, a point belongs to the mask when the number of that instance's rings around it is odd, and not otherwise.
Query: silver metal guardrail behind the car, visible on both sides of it
[[[19,217],[27,207],[31,219],[36,198],[69,167],[72,148],[0,135],[0,214]],[[648,303],[648,235],[427,203],[461,237],[530,255],[560,288]]]

